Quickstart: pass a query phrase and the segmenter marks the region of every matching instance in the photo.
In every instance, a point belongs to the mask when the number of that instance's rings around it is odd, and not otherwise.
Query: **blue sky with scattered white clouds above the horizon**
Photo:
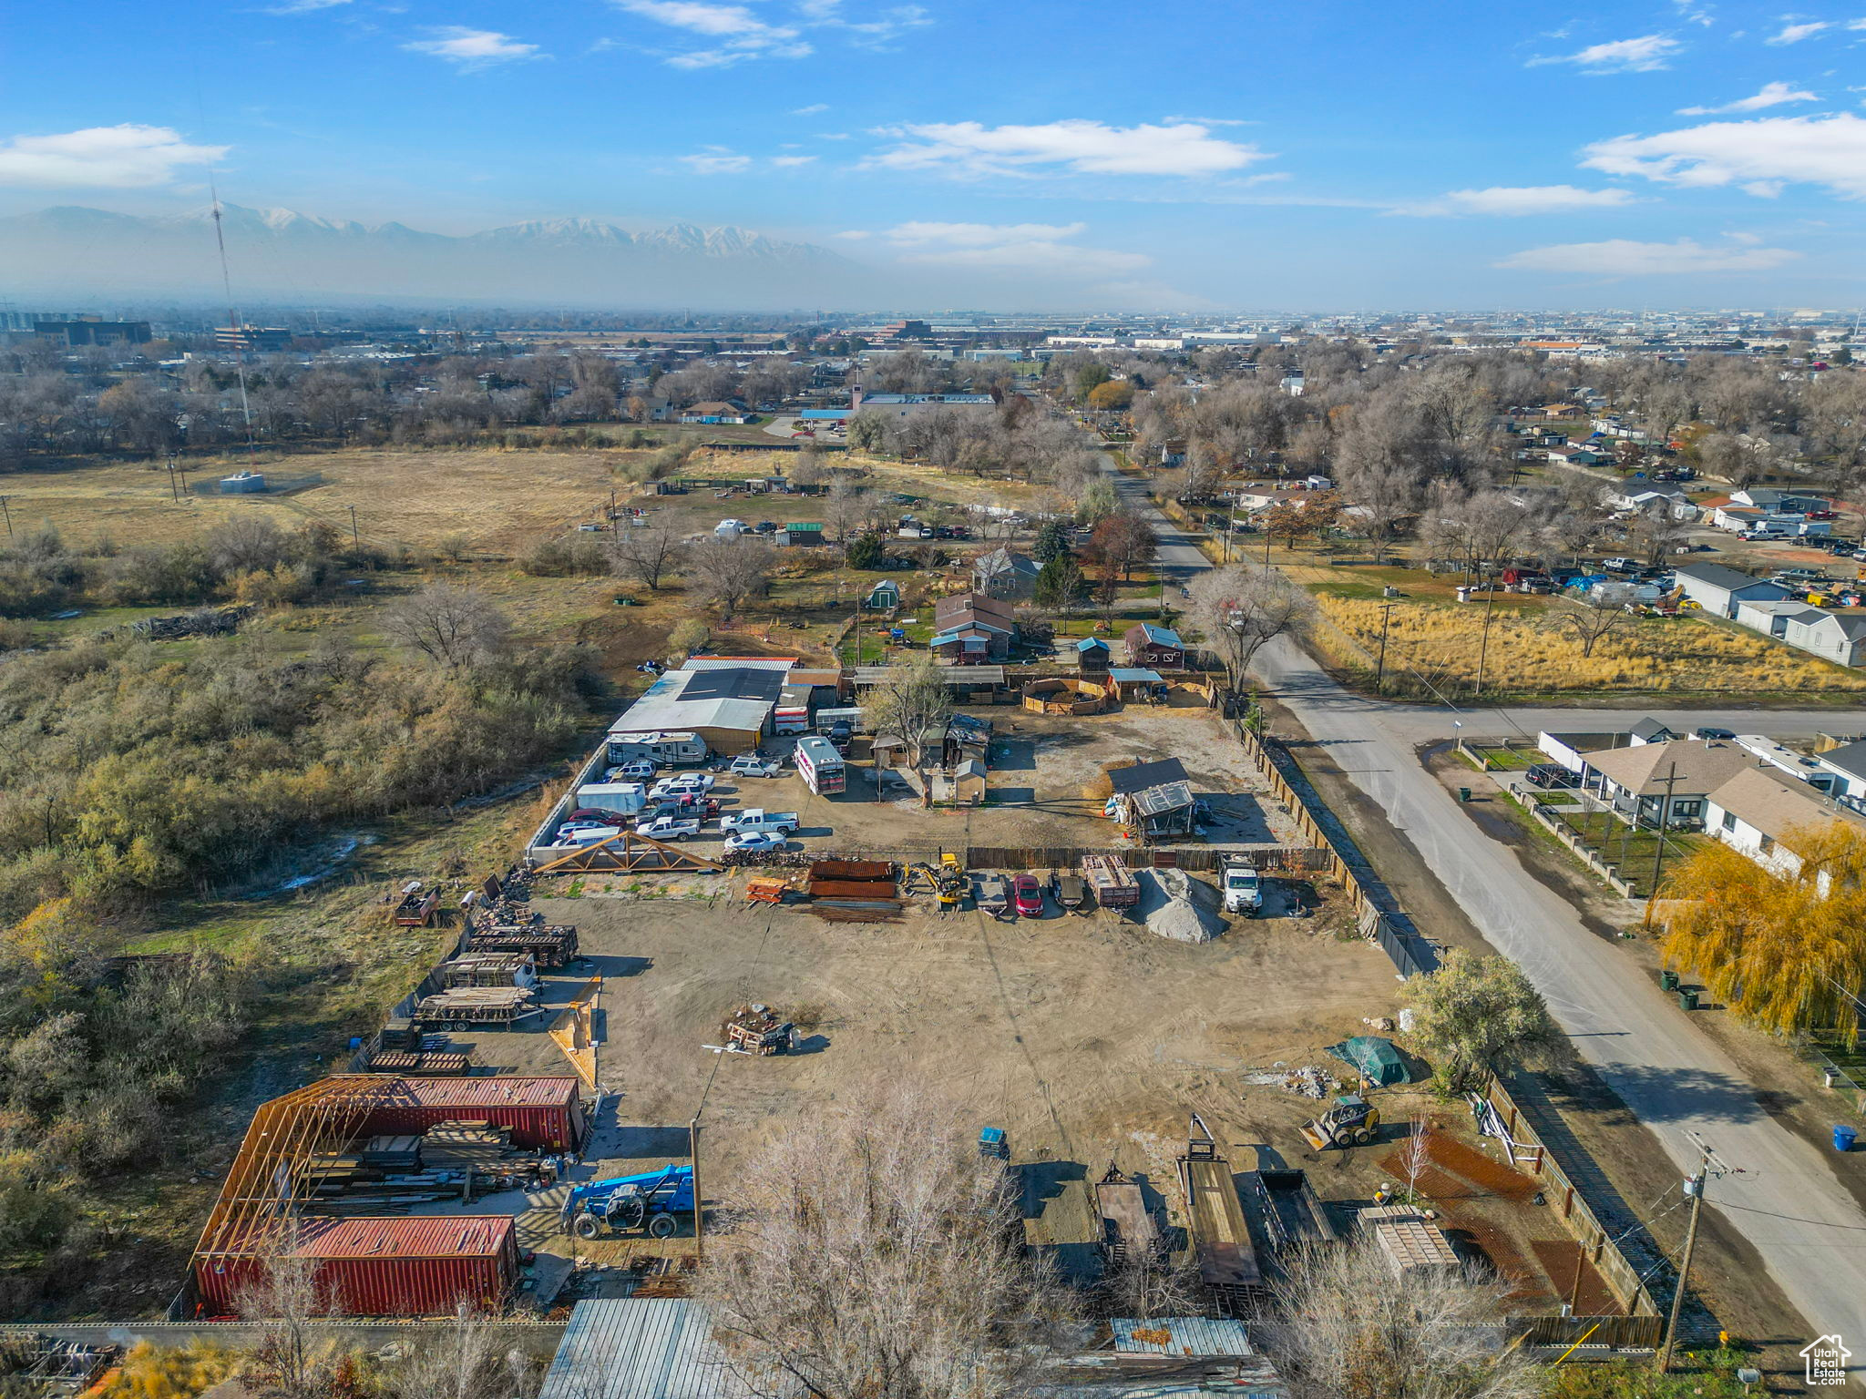
[[[1866,0],[71,0],[6,54],[0,213],[181,213],[211,166],[1084,306],[1866,302]]]

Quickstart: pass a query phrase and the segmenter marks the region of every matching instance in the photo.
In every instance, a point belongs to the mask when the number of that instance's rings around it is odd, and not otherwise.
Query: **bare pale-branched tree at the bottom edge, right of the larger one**
[[[1254,1336],[1291,1399],[1532,1399],[1541,1377],[1487,1323],[1502,1287],[1474,1268],[1413,1272],[1401,1283],[1368,1235],[1295,1255],[1274,1287],[1276,1317]]]

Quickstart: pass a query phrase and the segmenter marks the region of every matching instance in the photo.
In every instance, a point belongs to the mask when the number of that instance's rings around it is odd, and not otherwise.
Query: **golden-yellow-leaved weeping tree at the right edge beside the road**
[[[1866,830],[1803,826],[1762,866],[1711,843],[1674,866],[1664,961],[1767,1030],[1859,1039],[1866,990]]]

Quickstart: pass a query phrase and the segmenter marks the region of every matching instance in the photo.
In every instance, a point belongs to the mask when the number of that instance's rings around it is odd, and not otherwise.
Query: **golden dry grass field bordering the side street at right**
[[[1366,599],[1316,599],[1327,623],[1316,630],[1323,657],[1349,672],[1372,672],[1381,640],[1381,604]],[[1581,642],[1551,630],[1543,610],[1506,610],[1491,617],[1485,686],[1517,694],[1622,692],[1782,692],[1857,694],[1866,673],[1817,660],[1756,632],[1692,617],[1629,617],[1592,657]],[[1407,603],[1392,610],[1386,638],[1388,686],[1469,686],[1476,681],[1483,636],[1480,604]],[[1349,640],[1351,638],[1351,640]],[[1355,645],[1358,644],[1358,645]]]

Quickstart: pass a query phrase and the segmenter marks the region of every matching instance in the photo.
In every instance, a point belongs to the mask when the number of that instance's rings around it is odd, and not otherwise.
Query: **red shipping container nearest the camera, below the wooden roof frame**
[[[317,1261],[317,1280],[349,1317],[442,1317],[465,1298],[498,1309],[519,1278],[519,1242],[504,1214],[300,1220],[295,1257]],[[256,1274],[254,1254],[194,1259],[205,1315],[237,1309]]]

